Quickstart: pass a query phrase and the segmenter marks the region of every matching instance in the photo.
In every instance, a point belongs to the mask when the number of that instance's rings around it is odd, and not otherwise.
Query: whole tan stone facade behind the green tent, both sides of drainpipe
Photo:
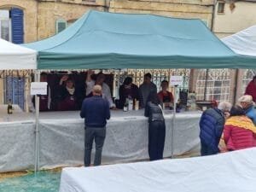
[[[24,11],[24,42],[49,38],[56,33],[56,21],[77,20],[89,9],[115,13],[199,18],[211,28],[213,0],[1,0],[0,9]]]

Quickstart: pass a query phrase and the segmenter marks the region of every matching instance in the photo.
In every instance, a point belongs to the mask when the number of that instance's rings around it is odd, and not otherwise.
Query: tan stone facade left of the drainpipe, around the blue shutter
[[[49,38],[56,33],[56,20],[77,20],[89,9],[104,10],[104,1],[90,0],[1,0],[0,9],[24,12],[24,42]]]

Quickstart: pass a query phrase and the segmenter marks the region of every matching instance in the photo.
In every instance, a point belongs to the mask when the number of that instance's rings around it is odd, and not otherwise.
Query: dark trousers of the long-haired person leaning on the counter
[[[152,121],[148,125],[148,154],[150,160],[163,159],[166,139],[165,121]]]

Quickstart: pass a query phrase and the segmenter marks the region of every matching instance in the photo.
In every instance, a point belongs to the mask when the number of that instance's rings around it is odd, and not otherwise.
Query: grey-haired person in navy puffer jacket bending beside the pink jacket
[[[218,143],[224,130],[224,113],[229,112],[231,104],[220,102],[218,108],[208,108],[201,115],[200,139],[201,155],[218,154]]]

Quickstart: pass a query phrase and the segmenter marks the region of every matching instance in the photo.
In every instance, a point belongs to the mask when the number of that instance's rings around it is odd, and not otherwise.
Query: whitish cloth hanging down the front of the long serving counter
[[[143,116],[143,111],[112,111],[111,115],[102,151],[102,163],[148,159],[148,121]],[[183,154],[193,148],[199,148],[200,116],[200,112],[177,113],[174,154]],[[170,156],[172,114],[166,113],[165,117],[164,155]],[[9,122],[0,123],[0,144],[5,146],[0,148],[0,172],[33,167],[34,127],[32,113],[14,113],[9,115]],[[79,118],[79,112],[40,113],[39,130],[41,168],[84,164],[84,119]]]

